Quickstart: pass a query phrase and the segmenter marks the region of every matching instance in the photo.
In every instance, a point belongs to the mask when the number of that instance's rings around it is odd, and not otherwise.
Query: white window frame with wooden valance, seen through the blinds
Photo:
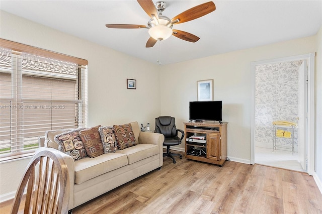
[[[12,95],[11,97],[1,97],[0,94],[0,100],[2,101],[13,101],[15,102],[15,104],[19,104],[21,103],[23,106],[24,101],[47,101],[47,102],[65,102],[65,103],[75,103],[78,104],[79,106],[81,106],[81,110],[78,111],[78,115],[76,116],[75,120],[79,120],[79,121],[75,121],[75,123],[78,125],[78,127],[86,127],[87,126],[87,106],[88,106],[88,97],[87,97],[87,91],[88,91],[88,83],[87,83],[87,60],[83,60],[83,59],[79,59],[79,58],[75,58],[75,57],[71,57],[71,56],[67,56],[67,55],[63,55],[63,54],[59,54],[56,52],[50,52],[47,50],[43,50],[43,49],[39,49],[39,48],[35,48],[35,47],[31,47],[28,45],[24,45],[24,44],[20,44],[20,43],[15,43],[12,41],[8,41],[8,40],[4,40],[4,39],[0,39],[0,47],[2,48],[6,48],[6,49],[10,49],[12,50],[12,53],[14,54],[14,57],[12,57],[12,66],[14,67],[18,67],[20,69],[12,69],[11,71],[8,70],[8,72],[10,72],[11,78],[12,78]],[[57,59],[57,60],[61,60],[61,61],[69,61],[69,62],[73,62],[73,63],[77,63],[78,64],[78,76],[76,77],[76,81],[81,81],[78,82],[78,87],[81,88],[81,90],[79,91],[81,94],[78,97],[77,100],[55,100],[55,99],[28,99],[28,98],[23,98],[22,97],[22,79],[23,79],[23,75],[25,74],[29,74],[28,71],[23,71],[22,70],[22,58],[21,58],[21,53],[28,53],[28,54],[33,54],[33,55],[37,55],[40,57],[46,57],[46,58],[52,58],[52,59]],[[20,56],[20,57],[19,57]],[[82,64],[79,64],[82,63]],[[3,72],[3,70],[2,70]],[[79,75],[81,77],[79,77]],[[41,76],[41,75],[40,75]],[[52,76],[51,76],[52,77]],[[58,76],[53,76],[53,78],[57,78]],[[68,74],[61,74],[59,75],[59,77],[63,77],[65,78],[73,78],[75,79],[74,76],[72,75],[68,75]],[[20,108],[13,108],[11,109],[11,111],[16,111],[14,113],[14,115],[19,115],[19,111],[22,111]],[[11,114],[12,115],[12,114]],[[18,126],[23,125],[23,121],[21,120],[23,118],[18,118],[16,123]],[[11,121],[12,124],[12,121]],[[13,140],[13,138],[11,137],[11,147],[15,147],[15,152],[8,152],[8,153],[4,153],[0,155],[0,162],[1,161],[7,161],[7,160],[11,160],[11,159],[16,159],[16,158],[21,158],[21,157],[26,157],[26,156],[31,156],[34,155],[34,152],[36,149],[30,149],[30,150],[25,150],[24,151],[24,140],[23,140],[23,136],[22,136],[23,131],[20,129],[17,129],[16,133],[12,133],[11,135],[15,135],[16,139]],[[39,136],[41,137],[41,136]],[[18,144],[18,145],[17,145]],[[20,145],[20,146],[19,146]],[[18,146],[18,147],[17,147]],[[17,148],[19,148],[17,150]]]

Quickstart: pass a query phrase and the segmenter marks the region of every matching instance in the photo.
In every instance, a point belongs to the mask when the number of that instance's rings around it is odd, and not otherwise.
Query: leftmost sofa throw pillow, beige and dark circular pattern
[[[64,132],[54,137],[55,142],[58,144],[58,150],[70,155],[74,161],[80,160],[87,156],[84,144],[79,137],[79,131],[85,128],[79,128],[70,132]]]

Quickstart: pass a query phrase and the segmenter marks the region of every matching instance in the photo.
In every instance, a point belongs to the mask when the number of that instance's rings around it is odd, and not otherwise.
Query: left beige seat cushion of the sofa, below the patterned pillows
[[[81,184],[127,164],[126,155],[121,153],[108,153],[96,158],[84,158],[75,162],[75,183]]]

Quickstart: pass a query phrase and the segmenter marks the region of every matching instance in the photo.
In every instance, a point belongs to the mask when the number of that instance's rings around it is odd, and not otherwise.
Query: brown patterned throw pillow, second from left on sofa
[[[100,126],[96,126],[79,131],[79,137],[81,137],[86,152],[91,158],[104,154],[99,127]]]

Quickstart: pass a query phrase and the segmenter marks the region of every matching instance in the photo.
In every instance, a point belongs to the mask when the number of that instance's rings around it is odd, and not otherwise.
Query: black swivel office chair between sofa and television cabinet
[[[170,147],[181,144],[182,139],[185,137],[184,131],[176,128],[176,120],[170,116],[162,116],[155,118],[155,131],[165,136],[164,146],[167,146],[167,152],[163,153],[163,156],[171,157],[173,163],[176,163],[176,159],[173,155],[179,155],[182,159],[182,155],[170,152]],[[178,137],[178,132],[181,132],[181,138]]]

